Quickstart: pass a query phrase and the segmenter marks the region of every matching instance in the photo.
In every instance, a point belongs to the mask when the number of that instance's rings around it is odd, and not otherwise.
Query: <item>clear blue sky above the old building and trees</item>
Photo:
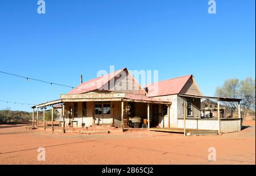
[[[193,74],[213,96],[230,78],[255,78],[255,0],[0,0],[0,71],[76,86],[98,70]],[[40,104],[71,89],[0,73],[0,100]],[[0,102],[0,109],[31,110]]]

